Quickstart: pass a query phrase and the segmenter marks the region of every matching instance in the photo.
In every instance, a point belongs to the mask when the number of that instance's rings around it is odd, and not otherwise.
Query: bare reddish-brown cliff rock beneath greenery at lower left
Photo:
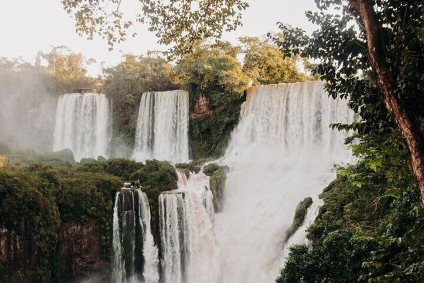
[[[84,223],[63,223],[59,231],[52,281],[70,281],[91,277],[94,274],[108,276],[109,258],[103,252],[96,220]],[[35,282],[26,272],[26,258],[33,254],[33,240],[26,240],[14,232],[0,229],[0,281]],[[32,254],[32,255],[31,255]],[[30,276],[30,277],[28,277]]]

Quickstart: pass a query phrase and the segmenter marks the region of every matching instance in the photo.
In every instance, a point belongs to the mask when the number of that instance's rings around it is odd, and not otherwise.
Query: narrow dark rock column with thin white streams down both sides
[[[158,249],[151,233],[148,199],[140,189],[136,189],[136,192],[135,195],[134,189],[130,187],[116,193],[112,237],[112,280],[115,283],[138,282],[141,274],[144,283],[159,281]],[[135,205],[136,201],[138,205]],[[142,268],[137,265],[136,246],[142,247]]]

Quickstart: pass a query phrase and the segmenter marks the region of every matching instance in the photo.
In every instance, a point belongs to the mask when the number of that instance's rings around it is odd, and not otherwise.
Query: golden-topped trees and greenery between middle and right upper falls
[[[229,135],[238,122],[240,96],[248,77],[228,45],[222,49],[196,43],[175,67],[176,78],[189,93],[190,109],[205,101],[208,113],[189,120],[188,134],[194,158],[224,154]]]

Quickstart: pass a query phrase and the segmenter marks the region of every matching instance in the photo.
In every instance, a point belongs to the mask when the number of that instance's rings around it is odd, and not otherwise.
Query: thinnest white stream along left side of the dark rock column
[[[115,204],[113,206],[113,237],[112,237],[112,277],[113,281],[116,283],[124,282],[126,278],[125,274],[125,261],[123,258],[123,249],[122,249],[122,240],[120,237],[120,228],[119,228],[119,215],[118,215],[118,205],[119,205],[119,192],[115,196]]]

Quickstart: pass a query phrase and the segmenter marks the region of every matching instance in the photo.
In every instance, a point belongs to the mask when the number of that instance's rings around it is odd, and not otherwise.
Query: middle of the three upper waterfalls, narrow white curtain
[[[133,157],[188,160],[188,93],[146,92],[141,96]]]

